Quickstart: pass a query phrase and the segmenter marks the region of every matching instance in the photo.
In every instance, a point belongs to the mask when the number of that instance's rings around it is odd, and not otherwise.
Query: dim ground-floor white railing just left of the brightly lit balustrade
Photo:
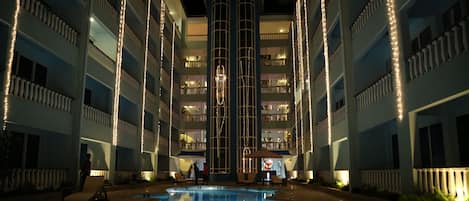
[[[399,169],[362,170],[362,185],[376,187],[393,193],[401,192],[401,175]]]

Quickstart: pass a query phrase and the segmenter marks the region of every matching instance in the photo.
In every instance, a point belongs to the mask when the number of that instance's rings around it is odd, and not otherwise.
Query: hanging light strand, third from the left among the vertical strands
[[[147,91],[147,67],[148,67],[148,38],[150,36],[150,15],[151,0],[147,0],[147,24],[145,30],[145,54],[143,56],[143,90],[142,90],[142,116],[141,116],[141,135],[140,135],[140,152],[143,153],[143,141],[145,135],[145,102]]]

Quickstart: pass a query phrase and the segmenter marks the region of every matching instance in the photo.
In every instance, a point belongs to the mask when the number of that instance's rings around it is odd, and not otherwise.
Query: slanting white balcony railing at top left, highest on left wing
[[[72,45],[77,46],[78,32],[56,15],[40,0],[21,0],[21,7],[42,23],[64,37]]]

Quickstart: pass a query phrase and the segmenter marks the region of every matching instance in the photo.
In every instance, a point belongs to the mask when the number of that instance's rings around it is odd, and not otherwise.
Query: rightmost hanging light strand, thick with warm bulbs
[[[401,68],[400,68],[400,47],[399,47],[399,31],[398,21],[396,15],[396,7],[394,0],[386,0],[386,8],[388,15],[388,29],[391,43],[391,57],[392,57],[392,69],[394,74],[394,85],[396,90],[396,112],[399,121],[404,118],[404,105],[403,105],[403,93],[401,85]]]

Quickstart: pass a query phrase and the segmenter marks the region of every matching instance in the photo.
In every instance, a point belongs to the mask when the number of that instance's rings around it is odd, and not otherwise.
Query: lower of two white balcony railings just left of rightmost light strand
[[[393,91],[392,73],[389,72],[355,96],[357,107],[364,109]]]

